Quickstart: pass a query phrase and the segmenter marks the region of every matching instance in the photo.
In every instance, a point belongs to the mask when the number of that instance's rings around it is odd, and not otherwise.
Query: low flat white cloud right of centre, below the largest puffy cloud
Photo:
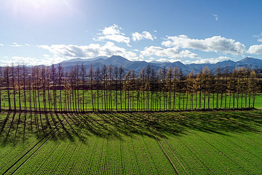
[[[160,57],[168,57],[168,58],[175,58],[181,59],[184,57],[190,58],[198,58],[199,56],[196,53],[192,53],[189,50],[180,50],[179,47],[172,47],[172,48],[162,48],[160,46],[150,46],[145,47],[144,50],[140,51],[140,57],[144,56],[160,56]]]

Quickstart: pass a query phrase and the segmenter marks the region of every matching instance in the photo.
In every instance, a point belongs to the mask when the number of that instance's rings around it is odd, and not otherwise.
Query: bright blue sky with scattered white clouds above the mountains
[[[0,0],[0,64],[262,59],[262,1]]]

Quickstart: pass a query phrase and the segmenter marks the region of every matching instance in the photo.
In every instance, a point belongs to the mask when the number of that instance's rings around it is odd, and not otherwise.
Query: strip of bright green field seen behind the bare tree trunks
[[[67,91],[68,92],[68,91]],[[61,101],[62,101],[62,108],[63,109],[67,109],[71,108],[73,109],[82,109],[83,105],[82,105],[82,101],[83,101],[83,95],[82,95],[82,90],[78,91],[78,95],[77,92],[74,91],[73,92],[73,96],[71,95],[70,91],[70,95],[65,96],[65,92],[64,90],[61,90]],[[100,110],[105,110],[105,108],[107,110],[109,110],[112,106],[113,110],[120,110],[121,109],[121,103],[120,101],[122,100],[122,110],[163,110],[163,109],[197,109],[197,108],[204,108],[204,102],[205,102],[205,108],[208,108],[208,93],[206,93],[206,97],[204,100],[204,93],[202,93],[201,95],[201,105],[199,104],[199,98],[200,98],[200,94],[193,94],[193,99],[190,93],[176,93],[176,97],[174,98],[174,94],[171,93],[170,96],[170,101],[169,102],[169,93],[165,92],[165,94],[163,92],[151,92],[149,91],[147,93],[147,91],[144,91],[144,95],[143,95],[143,91],[139,92],[139,98],[137,97],[137,93],[136,91],[132,92],[129,91],[129,95],[128,95],[128,91],[122,91],[122,98],[120,98],[120,91],[117,91],[117,98],[116,98],[116,91],[112,90],[111,95],[110,95],[110,91],[108,90],[108,92],[105,92],[104,90],[99,90],[98,91],[98,100],[97,100],[97,91],[93,90],[93,104],[94,104],[94,109],[97,110],[97,108],[99,108]],[[29,90],[26,90],[26,107],[27,109],[29,109],[29,101],[31,100],[31,106],[32,108],[34,107],[34,103],[33,103],[33,92],[32,90],[30,91],[31,93],[31,99],[29,96]],[[60,108],[60,90],[56,90],[56,108],[59,109]],[[165,95],[165,98],[164,98]],[[188,97],[187,97],[188,95]],[[23,97],[23,90],[20,91],[20,96],[21,96],[21,107],[24,108],[24,97]],[[41,91],[39,91],[39,100],[38,100],[38,95],[35,96],[35,107],[38,108],[40,106],[40,108],[44,107],[44,99],[43,99],[43,93]],[[92,110],[92,97],[91,97],[91,90],[86,90],[84,91],[84,109],[87,110]],[[111,96],[112,96],[112,100],[111,100]],[[129,96],[129,98],[128,98]],[[147,101],[147,96],[149,97],[149,100]],[[153,96],[153,97],[152,97]],[[159,97],[160,96],[160,97]],[[196,97],[197,96],[197,97]],[[105,97],[106,97],[106,101],[105,101]],[[180,97],[180,100],[179,100]],[[221,100],[222,97],[222,100]],[[13,94],[10,94],[10,98],[11,98],[11,107],[14,107],[14,97]],[[152,98],[152,100],[151,100]],[[197,98],[197,102],[196,102],[196,98]],[[235,94],[235,108],[242,108],[242,107],[249,107],[249,102],[250,102],[250,106],[253,106],[253,101],[252,101],[252,95],[250,95],[250,101],[249,101],[249,94]],[[18,92],[15,93],[15,103],[16,103],[16,107],[19,107],[19,95]],[[128,100],[129,99],[129,100]],[[214,100],[214,102],[213,102]],[[247,100],[247,102],[246,102]],[[38,101],[40,102],[38,104]],[[97,102],[98,101],[98,102]],[[112,101],[112,104],[111,104]],[[216,108],[217,107],[217,102],[218,102],[218,108],[225,108],[225,102],[227,102],[226,107],[227,108],[232,108],[233,107],[233,94],[231,94],[231,98],[230,98],[230,94],[227,94],[227,100],[225,100],[225,93],[221,94],[216,94],[214,93],[214,97],[213,94],[210,93],[209,94],[209,101],[210,101],[210,108]],[[48,105],[48,93],[46,91],[45,93],[45,102],[46,102],[46,106],[47,108],[49,108]],[[246,105],[247,103],[247,105]],[[50,107],[51,109],[54,108],[54,100],[53,100],[53,91],[50,90]],[[98,104],[98,105],[97,105]],[[192,105],[193,104],[193,105]],[[79,105],[79,106],[78,106]],[[170,105],[170,108],[169,108]],[[192,105],[192,106],[191,106]],[[1,106],[2,108],[8,108],[8,98],[7,98],[7,91],[6,90],[2,90],[1,91]],[[262,94],[261,93],[257,93],[256,94],[256,98],[255,98],[255,107],[262,107]]]

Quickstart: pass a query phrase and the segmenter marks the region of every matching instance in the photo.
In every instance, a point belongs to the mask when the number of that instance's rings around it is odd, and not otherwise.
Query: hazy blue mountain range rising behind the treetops
[[[136,72],[139,72],[142,70],[143,67],[146,67],[147,65],[150,65],[155,68],[156,71],[158,71],[161,67],[169,68],[170,66],[175,67],[177,66],[179,69],[182,69],[184,74],[190,73],[190,71],[193,69],[195,73],[197,73],[201,68],[204,68],[205,66],[208,66],[210,70],[214,71],[217,67],[221,67],[222,70],[226,67],[229,68],[230,71],[233,70],[234,67],[249,67],[252,69],[258,69],[262,68],[262,59],[257,59],[253,57],[246,57],[244,59],[241,59],[239,61],[232,61],[232,60],[225,60],[217,63],[191,63],[191,64],[183,64],[180,61],[176,62],[159,62],[159,61],[130,61],[122,56],[113,55],[111,57],[107,56],[98,56],[95,58],[89,58],[89,59],[82,59],[82,58],[74,58],[70,60],[65,60],[60,62],[61,65],[64,67],[64,70],[70,70],[75,65],[83,65],[86,69],[89,68],[89,66],[92,64],[93,67],[99,67],[101,68],[104,64],[113,66],[123,66],[126,71],[132,69]]]

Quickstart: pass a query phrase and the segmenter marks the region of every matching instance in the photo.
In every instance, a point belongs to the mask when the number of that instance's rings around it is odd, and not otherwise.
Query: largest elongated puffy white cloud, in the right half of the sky
[[[234,39],[222,36],[213,36],[205,39],[191,39],[187,35],[168,36],[162,45],[167,47],[177,46],[182,48],[193,48],[202,51],[221,51],[234,55],[244,55],[246,46]]]

